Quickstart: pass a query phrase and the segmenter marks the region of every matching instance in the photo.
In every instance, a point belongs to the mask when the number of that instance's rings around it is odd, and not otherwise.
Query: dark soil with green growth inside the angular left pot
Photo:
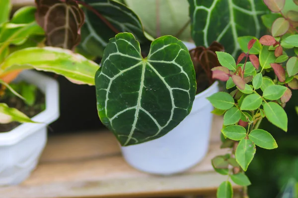
[[[9,107],[14,107],[32,118],[45,110],[45,95],[35,86],[26,82],[11,83],[10,86],[26,101],[18,98],[4,86],[0,86],[0,103],[6,103]],[[19,126],[19,122],[0,124],[0,133],[9,132]]]

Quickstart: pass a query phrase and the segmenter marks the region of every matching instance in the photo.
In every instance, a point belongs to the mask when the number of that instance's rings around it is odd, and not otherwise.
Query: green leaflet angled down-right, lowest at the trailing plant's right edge
[[[268,102],[264,104],[264,111],[267,119],[275,126],[288,130],[288,117],[285,110],[275,102]]]

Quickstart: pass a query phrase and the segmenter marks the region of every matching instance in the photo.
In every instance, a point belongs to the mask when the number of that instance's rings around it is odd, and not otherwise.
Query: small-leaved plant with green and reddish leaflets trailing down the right
[[[208,98],[216,107],[214,112],[224,114],[222,148],[231,148],[230,154],[216,156],[212,164],[217,172],[245,186],[244,197],[248,197],[246,186],[250,185],[244,172],[255,155],[256,146],[277,148],[272,135],[259,129],[260,123],[266,117],[273,125],[287,131],[288,117],[283,107],[291,99],[292,90],[298,89],[295,54],[298,35],[293,21],[298,12],[288,11],[290,19],[282,13],[285,1],[264,2],[272,11],[280,12],[281,16],[271,22],[265,19],[276,14],[262,17],[265,24],[271,27],[272,36],[265,35],[260,40],[252,38],[247,47],[244,47],[247,37],[240,37],[238,42],[245,52],[238,56],[237,61],[228,53],[217,52],[222,66],[213,69],[213,77],[226,81],[226,89],[231,92],[219,92]],[[293,52],[295,55],[289,58]],[[269,77],[272,72],[275,76],[273,79]],[[232,197],[229,181],[220,185],[217,195]]]

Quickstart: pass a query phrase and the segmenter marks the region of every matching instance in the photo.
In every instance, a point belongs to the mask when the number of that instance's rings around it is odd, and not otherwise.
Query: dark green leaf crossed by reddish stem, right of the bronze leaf
[[[141,44],[149,42],[139,17],[130,8],[114,0],[84,0],[85,23],[77,49],[102,56],[109,39],[119,32],[130,32]],[[91,8],[90,8],[91,7]],[[100,16],[100,17],[99,17]]]

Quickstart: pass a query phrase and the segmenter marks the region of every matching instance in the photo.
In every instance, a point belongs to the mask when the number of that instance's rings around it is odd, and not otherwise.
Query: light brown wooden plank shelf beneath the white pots
[[[0,188],[1,198],[133,198],[215,194],[226,176],[211,159],[220,149],[222,117],[215,116],[204,160],[183,174],[156,176],[140,172],[123,159],[110,132],[52,136],[32,175],[18,186]],[[233,184],[233,187],[239,189]]]

